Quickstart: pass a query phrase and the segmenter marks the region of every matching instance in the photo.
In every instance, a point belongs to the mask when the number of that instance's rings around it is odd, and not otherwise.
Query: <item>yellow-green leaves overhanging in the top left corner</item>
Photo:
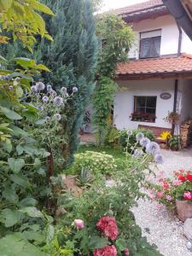
[[[12,32],[13,39],[19,39],[24,46],[32,51],[32,45],[36,42],[35,36],[52,38],[46,32],[43,18],[38,14],[43,12],[47,15],[54,15],[43,3],[37,0],[1,0],[0,1],[0,23],[6,32]],[[33,22],[31,22],[33,20]],[[8,44],[9,37],[1,31],[0,44]]]

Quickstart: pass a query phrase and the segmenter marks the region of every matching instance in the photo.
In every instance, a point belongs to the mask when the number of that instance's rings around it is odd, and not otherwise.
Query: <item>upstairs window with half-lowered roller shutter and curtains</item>
[[[139,58],[154,58],[160,56],[161,30],[140,33]]]

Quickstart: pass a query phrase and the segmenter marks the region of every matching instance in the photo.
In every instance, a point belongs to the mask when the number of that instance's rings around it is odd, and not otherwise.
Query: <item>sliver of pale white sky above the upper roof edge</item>
[[[147,0],[103,0],[102,11],[118,9],[135,3],[143,3]]]

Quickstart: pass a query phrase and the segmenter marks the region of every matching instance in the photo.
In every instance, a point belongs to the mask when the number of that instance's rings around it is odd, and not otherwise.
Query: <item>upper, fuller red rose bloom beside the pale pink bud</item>
[[[104,236],[108,236],[111,240],[115,240],[118,236],[118,227],[114,218],[108,216],[100,218],[96,227]]]

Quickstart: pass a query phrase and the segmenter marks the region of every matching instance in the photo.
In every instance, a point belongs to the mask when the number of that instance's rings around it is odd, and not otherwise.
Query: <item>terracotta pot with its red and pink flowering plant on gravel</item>
[[[171,178],[160,177],[158,184],[148,183],[148,188],[151,197],[176,210],[180,220],[192,218],[192,172],[179,170]]]

